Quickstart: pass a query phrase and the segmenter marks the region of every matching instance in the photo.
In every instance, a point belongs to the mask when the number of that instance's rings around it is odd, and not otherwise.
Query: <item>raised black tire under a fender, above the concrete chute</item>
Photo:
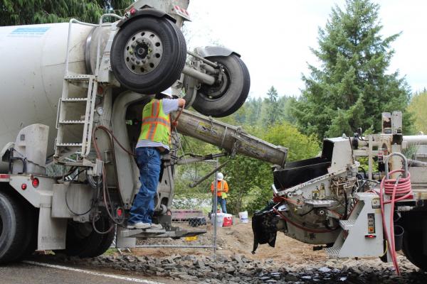
[[[206,58],[217,62],[223,70],[221,83],[202,84],[193,107],[201,114],[223,117],[237,111],[249,94],[251,77],[245,63],[235,54]]]

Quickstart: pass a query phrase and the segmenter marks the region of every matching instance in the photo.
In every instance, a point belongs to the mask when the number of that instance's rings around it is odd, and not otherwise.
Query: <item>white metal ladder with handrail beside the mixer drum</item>
[[[56,116],[56,129],[58,130],[56,141],[55,141],[55,155],[54,158],[56,163],[70,166],[83,166],[83,167],[94,167],[95,164],[88,160],[90,154],[90,148],[92,144],[92,133],[93,133],[93,119],[95,116],[95,100],[98,92],[98,70],[100,65],[100,38],[97,42],[97,58],[96,58],[96,71],[95,75],[88,74],[76,74],[70,72],[68,69],[70,59],[70,40],[73,23],[78,23],[85,26],[93,26],[94,28],[102,26],[111,26],[111,23],[103,23],[103,19],[107,16],[112,18],[122,18],[112,13],[102,15],[100,17],[99,24],[83,23],[75,19],[71,19],[68,26],[68,40],[67,40],[67,53],[65,59],[65,76],[63,78],[63,92],[58,102],[58,113]],[[70,94],[70,86],[76,85],[87,89],[86,97],[75,97]],[[85,104],[84,112],[76,114],[75,104]],[[69,119],[70,108],[73,108],[74,118]],[[77,119],[75,117],[77,116]],[[67,129],[70,127],[81,127],[82,140],[81,141],[64,141],[64,135],[67,133]],[[67,159],[70,153],[76,153],[79,158],[75,161]]]

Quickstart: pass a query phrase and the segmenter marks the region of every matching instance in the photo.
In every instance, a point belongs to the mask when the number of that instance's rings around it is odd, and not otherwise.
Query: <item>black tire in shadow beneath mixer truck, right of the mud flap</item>
[[[95,225],[99,231],[106,231],[110,228],[110,222],[104,218],[97,220]],[[67,228],[65,250],[58,252],[82,258],[100,256],[110,247],[114,234],[114,229],[108,234],[97,234],[92,227],[92,223],[70,222]]]

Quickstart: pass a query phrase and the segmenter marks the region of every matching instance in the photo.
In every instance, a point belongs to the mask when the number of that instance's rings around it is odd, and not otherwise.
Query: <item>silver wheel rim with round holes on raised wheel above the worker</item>
[[[125,45],[125,64],[137,75],[146,75],[159,66],[163,57],[163,43],[157,33],[139,31]]]

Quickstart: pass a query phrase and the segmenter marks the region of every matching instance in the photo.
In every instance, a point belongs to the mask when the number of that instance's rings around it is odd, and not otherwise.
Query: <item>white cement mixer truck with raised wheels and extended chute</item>
[[[35,250],[97,256],[116,228],[118,247],[204,233],[171,224],[177,133],[284,165],[285,148],[212,119],[241,107],[249,72],[233,50],[186,50],[188,6],[139,0],[125,16],[107,13],[96,24],[0,27],[0,263]],[[154,218],[164,229],[127,230],[142,109],[170,86],[206,116],[184,110],[162,158]],[[47,175],[50,165],[57,170]]]

